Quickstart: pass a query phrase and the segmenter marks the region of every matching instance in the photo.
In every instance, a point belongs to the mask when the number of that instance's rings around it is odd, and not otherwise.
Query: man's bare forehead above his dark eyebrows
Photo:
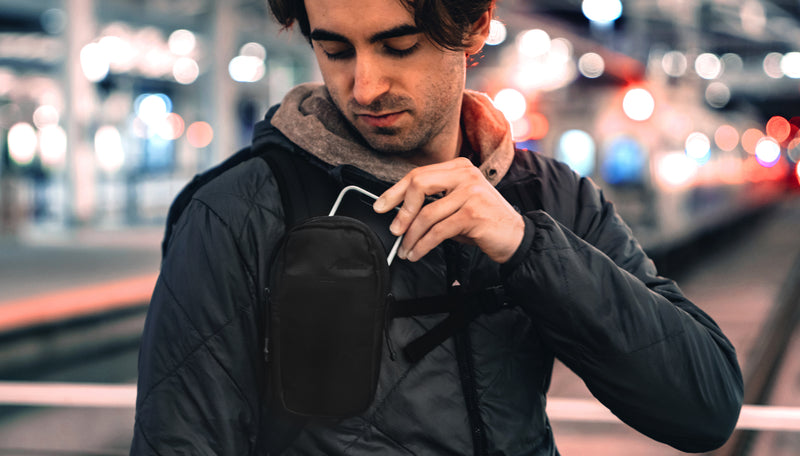
[[[414,25],[400,0],[305,0],[310,29],[325,29],[350,38]]]

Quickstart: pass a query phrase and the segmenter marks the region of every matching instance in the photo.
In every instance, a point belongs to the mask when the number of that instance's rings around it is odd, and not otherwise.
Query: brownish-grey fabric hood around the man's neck
[[[353,132],[322,84],[302,84],[289,91],[271,123],[300,148],[332,166],[353,165],[388,182],[400,180],[417,166],[401,157],[375,153]],[[508,121],[486,95],[467,90],[461,129],[478,154],[483,175],[496,185],[514,159]]]

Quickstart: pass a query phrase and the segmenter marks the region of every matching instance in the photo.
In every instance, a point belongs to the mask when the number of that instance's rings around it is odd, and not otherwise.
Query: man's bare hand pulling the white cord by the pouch
[[[424,205],[427,196],[439,193],[444,196]],[[390,230],[405,234],[398,256],[409,261],[453,238],[505,263],[525,231],[522,216],[466,158],[412,170],[380,196],[374,209],[384,213],[400,203]]]

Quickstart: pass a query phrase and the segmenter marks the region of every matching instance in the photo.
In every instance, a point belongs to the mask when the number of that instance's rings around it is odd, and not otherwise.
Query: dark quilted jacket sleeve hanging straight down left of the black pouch
[[[266,370],[259,258],[282,230],[235,189],[187,206],[142,336],[132,455],[256,451]]]

